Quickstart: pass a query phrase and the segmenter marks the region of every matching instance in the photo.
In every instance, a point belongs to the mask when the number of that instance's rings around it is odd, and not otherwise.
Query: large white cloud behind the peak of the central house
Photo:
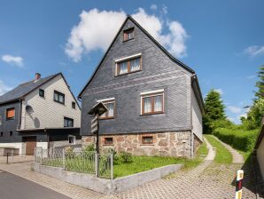
[[[163,6],[162,10],[167,12],[167,7]],[[143,8],[138,8],[131,16],[169,52],[178,58],[187,56],[185,41],[188,35],[180,22],[148,14]],[[82,60],[84,53],[105,51],[126,19],[126,13],[92,9],[82,11],[80,18],[79,24],[72,28],[65,49],[75,62]],[[167,34],[162,34],[165,29]]]

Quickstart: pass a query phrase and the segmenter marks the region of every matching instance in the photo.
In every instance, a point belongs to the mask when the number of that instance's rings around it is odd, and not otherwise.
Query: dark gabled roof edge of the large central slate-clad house
[[[157,46],[159,47],[159,49],[164,52],[165,54],[167,54],[167,57],[171,60],[173,60],[177,65],[181,66],[182,68],[186,69],[187,71],[189,71],[191,74],[193,74],[195,76],[195,71],[191,68],[189,68],[188,66],[186,66],[185,64],[182,63],[182,61],[180,60],[177,60],[173,55],[171,55],[171,53],[167,52],[167,50],[161,45],[159,44],[159,42],[153,38],[153,36],[151,36],[142,26],[140,26],[136,20],[134,20],[130,15],[128,15],[127,19],[123,22],[123,24],[121,25],[118,33],[116,34],[116,36],[114,36],[113,38],[113,41],[112,43],[110,44],[110,46],[108,47],[107,51],[105,52],[105,55],[104,57],[100,60],[99,64],[97,65],[97,68],[95,69],[95,71],[93,72],[92,76],[89,78],[89,81],[87,84],[85,84],[84,88],[82,89],[82,92],[85,91],[86,87],[90,84],[90,82],[92,81],[92,79],[94,78],[94,76],[96,75],[97,73],[97,70],[98,68],[101,66],[101,64],[103,63],[103,61],[105,60],[105,57],[107,55],[107,53],[110,51],[110,49],[112,48],[113,46],[113,43],[114,41],[117,39],[117,37],[120,35],[120,31],[122,30],[122,28],[125,26],[125,24],[127,23],[128,20],[131,20],[142,32],[144,32],[144,34],[146,36],[148,36],[151,41],[154,43],[154,44],[157,44]],[[194,78],[194,81],[197,81],[197,84],[198,84],[198,79],[197,78]],[[200,89],[199,89],[199,85],[198,85],[198,95],[199,95],[199,98],[201,101],[203,101],[203,97],[202,97],[202,94],[200,92]],[[82,99],[82,92],[80,92],[80,94],[78,95],[78,99]],[[202,106],[203,107],[203,103],[202,103]]]

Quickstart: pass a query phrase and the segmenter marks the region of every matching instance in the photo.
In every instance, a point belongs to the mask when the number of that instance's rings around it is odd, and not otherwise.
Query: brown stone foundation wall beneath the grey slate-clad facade
[[[152,144],[144,144],[143,137],[152,136]],[[105,144],[105,138],[113,138],[113,144]],[[82,146],[95,143],[95,136],[82,137]],[[190,158],[190,131],[172,131],[100,136],[100,148],[114,147],[117,152],[127,151],[133,155],[164,155]]]

